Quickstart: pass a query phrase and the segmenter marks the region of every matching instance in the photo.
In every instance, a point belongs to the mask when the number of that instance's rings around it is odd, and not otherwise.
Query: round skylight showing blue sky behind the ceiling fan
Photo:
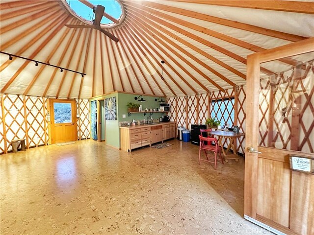
[[[119,24],[122,19],[122,7],[117,0],[66,0],[66,2],[80,18],[89,22],[95,19],[93,6],[105,6],[105,13],[101,20],[102,26]]]

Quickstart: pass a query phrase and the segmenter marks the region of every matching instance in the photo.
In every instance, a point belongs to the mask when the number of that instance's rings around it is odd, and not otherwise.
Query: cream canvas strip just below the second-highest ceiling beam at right
[[[278,38],[273,38],[270,36],[266,36],[266,35],[262,35],[262,34],[258,34],[258,33],[253,33],[253,32],[249,32],[249,31],[221,25],[221,24],[215,24],[215,23],[195,19],[192,17],[187,17],[187,16],[175,14],[172,12],[166,12],[166,11],[161,11],[161,10],[158,10],[158,11],[163,12],[165,14],[168,14],[170,16],[176,17],[178,19],[184,20],[186,22],[192,23],[192,24],[201,25],[204,28],[208,28],[208,29],[213,30],[215,32],[225,34],[227,36],[241,40],[243,42],[250,43],[250,44],[253,44],[253,45],[258,46],[258,47],[262,47],[264,49],[279,47],[279,46],[283,46],[283,45],[291,43],[290,41],[286,41],[286,40],[282,40],[282,39],[278,39]],[[178,26],[181,27],[181,25],[178,25]],[[252,53],[253,52],[254,51],[252,51]]]

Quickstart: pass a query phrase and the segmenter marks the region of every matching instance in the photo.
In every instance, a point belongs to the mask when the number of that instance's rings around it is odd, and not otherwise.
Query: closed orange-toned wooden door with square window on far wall
[[[76,115],[75,100],[50,100],[51,143],[77,140]]]

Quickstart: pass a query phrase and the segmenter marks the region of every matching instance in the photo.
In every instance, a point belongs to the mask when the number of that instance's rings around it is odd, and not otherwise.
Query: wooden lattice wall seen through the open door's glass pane
[[[261,81],[259,144],[279,149],[291,149],[292,135],[299,135],[297,148],[302,152],[314,152],[314,69],[313,62],[301,69],[296,77],[292,70],[276,74]],[[294,91],[292,91],[294,89]],[[295,93],[295,91],[297,91]],[[293,96],[301,99],[300,107],[294,107]],[[273,108],[270,107],[273,100]],[[299,109],[300,133],[292,133],[293,111]],[[271,119],[269,110],[272,110]],[[273,122],[272,133],[269,121]],[[268,140],[268,138],[271,138]]]

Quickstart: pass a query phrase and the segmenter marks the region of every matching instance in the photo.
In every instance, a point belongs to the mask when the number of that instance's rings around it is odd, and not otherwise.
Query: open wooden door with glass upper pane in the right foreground
[[[314,175],[289,165],[314,157],[313,51],[312,38],[247,60],[244,217],[277,234],[314,234]]]

